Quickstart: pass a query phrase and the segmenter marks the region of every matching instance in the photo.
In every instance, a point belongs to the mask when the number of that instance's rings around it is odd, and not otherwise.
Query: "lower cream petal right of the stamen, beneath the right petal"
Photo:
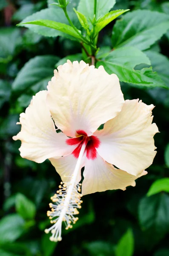
[[[146,174],[147,172],[143,171],[138,176],[130,175],[125,171],[116,169],[97,154],[95,160],[85,161],[82,195],[102,192],[108,189],[125,190],[126,186],[135,186],[135,179]]]

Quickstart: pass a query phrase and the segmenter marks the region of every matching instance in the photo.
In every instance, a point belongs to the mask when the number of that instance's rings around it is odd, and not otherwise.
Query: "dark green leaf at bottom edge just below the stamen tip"
[[[50,241],[49,237],[51,234],[44,234],[42,236],[41,247],[43,251],[43,256],[52,256],[57,243]]]

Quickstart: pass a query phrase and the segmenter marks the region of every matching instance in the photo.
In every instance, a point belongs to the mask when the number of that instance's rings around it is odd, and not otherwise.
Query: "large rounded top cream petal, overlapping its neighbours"
[[[79,130],[90,136],[120,112],[124,99],[115,74],[84,61],[68,60],[57,69],[48,85],[47,103],[56,126],[67,136]]]

